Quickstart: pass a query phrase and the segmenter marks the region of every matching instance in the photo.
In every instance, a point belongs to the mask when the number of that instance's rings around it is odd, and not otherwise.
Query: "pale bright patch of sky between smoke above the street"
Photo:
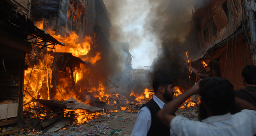
[[[147,0],[104,0],[110,13],[110,38],[129,43],[132,67],[145,68],[157,56],[156,38],[144,25],[151,5]]]

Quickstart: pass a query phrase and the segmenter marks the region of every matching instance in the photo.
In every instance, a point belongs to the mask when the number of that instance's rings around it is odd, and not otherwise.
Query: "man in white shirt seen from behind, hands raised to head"
[[[200,120],[173,116],[180,104],[193,94],[201,95]],[[243,109],[231,115],[233,104]],[[176,136],[253,136],[256,133],[256,106],[234,96],[225,78],[205,78],[178,96],[157,113]]]

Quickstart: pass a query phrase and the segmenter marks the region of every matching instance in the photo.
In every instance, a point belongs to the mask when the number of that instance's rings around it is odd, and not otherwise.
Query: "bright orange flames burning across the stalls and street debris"
[[[44,28],[43,21],[41,23],[37,22],[36,25],[38,28]],[[96,106],[100,102],[103,105],[107,104],[114,107],[107,112],[133,112],[138,111],[139,105],[153,98],[154,91],[148,88],[145,88],[144,92],[140,94],[131,90],[128,96],[110,93],[108,90],[112,87],[107,87],[104,81],[100,79],[96,83],[91,81],[91,78],[87,76],[91,73],[91,69],[88,66],[80,63],[75,67],[67,67],[68,61],[71,61],[69,60],[71,58],[64,58],[64,55],[60,55],[62,57],[60,59],[62,60],[62,67],[57,70],[56,66],[54,66],[57,63],[56,56],[52,55],[52,51],[54,53],[72,53],[73,56],[83,61],[91,62],[91,65],[97,64],[101,59],[101,53],[96,52],[95,56],[86,56],[91,50],[91,44],[94,43],[89,36],[79,38],[75,32],[72,32],[63,37],[55,35],[55,32],[50,29],[47,29],[47,33],[50,33],[58,41],[65,43],[65,47],[57,46],[54,50],[34,47],[34,53],[26,56],[26,63],[30,67],[24,73],[24,111],[28,110],[31,106],[36,106],[34,103],[35,99],[64,101],[73,97],[77,101],[91,106]],[[187,53],[186,55],[188,57]],[[55,76],[57,76],[57,81],[54,81],[55,78],[53,77]],[[118,86],[114,87],[118,88]],[[54,90],[55,93],[52,93]],[[175,96],[181,94],[180,88],[177,86],[175,90],[178,92]],[[119,108],[115,107],[116,105],[120,105]],[[192,105],[188,106],[194,105],[192,103]],[[131,107],[135,110],[132,111]],[[185,105],[181,108],[185,108]],[[76,123],[88,122],[99,115],[107,114],[106,111],[88,112],[83,109],[65,110],[65,113],[71,113],[71,111],[72,115],[76,117]],[[31,112],[36,114],[33,110]],[[40,113],[40,115],[34,116],[43,118],[47,115]],[[67,114],[67,116],[70,116],[70,114]]]

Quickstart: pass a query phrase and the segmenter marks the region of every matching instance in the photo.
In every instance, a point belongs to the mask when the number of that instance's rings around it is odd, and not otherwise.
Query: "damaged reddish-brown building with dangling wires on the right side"
[[[221,76],[234,89],[243,88],[244,66],[255,65],[254,13],[253,0],[197,0],[192,19],[201,51],[191,59],[191,70],[201,78]]]

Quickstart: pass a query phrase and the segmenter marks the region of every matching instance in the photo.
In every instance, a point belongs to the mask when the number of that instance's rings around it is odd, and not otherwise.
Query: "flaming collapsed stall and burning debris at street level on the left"
[[[32,65],[25,71],[23,112],[26,123],[34,124],[36,121],[34,127],[37,130],[54,132],[68,124],[84,123],[112,112],[136,112],[139,104],[142,104],[141,99],[146,101],[152,97],[153,92],[148,89],[145,90],[147,98],[143,95],[138,97],[135,93],[120,96],[107,92],[110,88],[118,88],[109,79],[107,81],[113,87],[105,88],[100,83],[97,89],[81,89],[83,85],[78,79],[81,79],[81,75],[85,76],[86,70],[83,68],[91,63],[71,53],[47,51],[47,55],[38,53],[36,57],[34,54],[28,56],[34,59],[28,59],[32,60]],[[49,58],[51,60],[47,60]]]

